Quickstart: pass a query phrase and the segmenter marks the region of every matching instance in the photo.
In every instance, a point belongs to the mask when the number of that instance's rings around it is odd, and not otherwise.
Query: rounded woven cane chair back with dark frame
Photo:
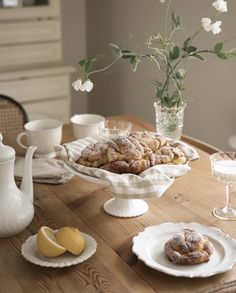
[[[10,97],[0,95],[0,132],[3,135],[21,131],[28,121],[21,104]]]

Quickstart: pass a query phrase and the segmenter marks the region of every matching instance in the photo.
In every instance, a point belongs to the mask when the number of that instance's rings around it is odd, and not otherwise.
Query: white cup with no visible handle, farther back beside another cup
[[[105,118],[96,114],[76,114],[70,121],[77,139],[102,134],[105,126]]]

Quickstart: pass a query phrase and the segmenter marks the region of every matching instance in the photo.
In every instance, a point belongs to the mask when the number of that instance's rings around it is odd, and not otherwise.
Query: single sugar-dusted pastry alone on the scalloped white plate
[[[206,236],[194,230],[183,229],[166,242],[164,252],[175,264],[193,265],[207,262],[213,249]]]

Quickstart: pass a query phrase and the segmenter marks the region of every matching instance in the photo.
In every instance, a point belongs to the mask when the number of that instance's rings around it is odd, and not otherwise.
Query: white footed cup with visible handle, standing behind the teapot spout
[[[17,136],[17,143],[24,149],[29,146],[37,146],[36,158],[52,158],[56,156],[55,147],[61,144],[63,123],[54,119],[34,120],[24,125],[25,132]],[[28,146],[21,142],[21,138],[27,136]]]

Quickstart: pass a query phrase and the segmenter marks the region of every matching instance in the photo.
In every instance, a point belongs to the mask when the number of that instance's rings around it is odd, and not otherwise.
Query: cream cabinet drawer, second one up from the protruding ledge
[[[59,20],[0,24],[0,44],[54,41],[60,39]]]

